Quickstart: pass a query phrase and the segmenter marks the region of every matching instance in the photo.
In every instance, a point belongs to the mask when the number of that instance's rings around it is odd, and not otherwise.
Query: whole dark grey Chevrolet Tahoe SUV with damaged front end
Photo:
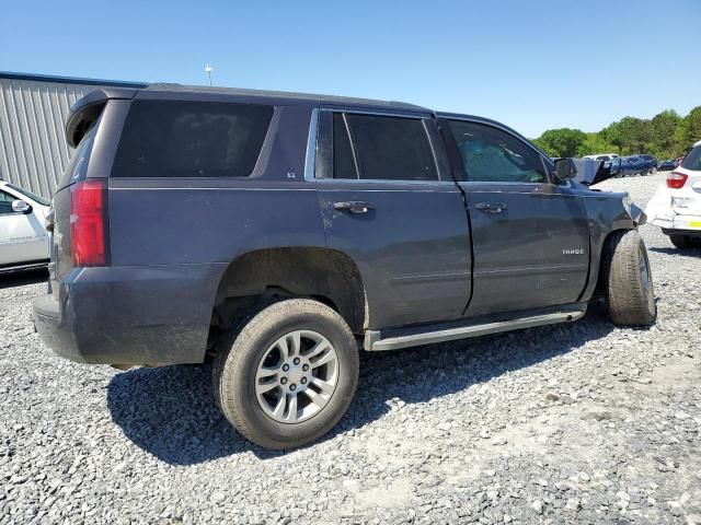
[[[266,447],[336,424],[361,348],[568,323],[595,291],[617,325],[656,316],[642,210],[490,119],[154,85],[87,95],[66,135],[42,338],[122,368],[211,359]]]

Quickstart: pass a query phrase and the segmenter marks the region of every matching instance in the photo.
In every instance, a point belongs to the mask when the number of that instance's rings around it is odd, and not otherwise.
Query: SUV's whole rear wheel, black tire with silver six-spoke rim
[[[346,322],[308,299],[275,303],[222,345],[212,366],[219,408],[245,439],[294,448],[343,417],[358,381],[358,347]]]

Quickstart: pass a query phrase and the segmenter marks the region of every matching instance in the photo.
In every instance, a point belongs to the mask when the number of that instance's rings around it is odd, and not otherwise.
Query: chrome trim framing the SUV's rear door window
[[[319,119],[322,113],[341,114],[343,115],[343,121],[346,126],[346,131],[348,132],[348,139],[350,141],[350,149],[353,151],[353,162],[356,166],[356,174],[358,178],[317,178],[315,176],[315,164],[317,164],[317,143],[319,142]],[[428,141],[428,147],[430,148],[432,159],[434,162],[434,167],[436,170],[436,175],[438,176],[435,180],[398,180],[393,178],[360,178],[360,171],[358,168],[355,144],[353,142],[353,133],[350,132],[346,114],[349,115],[371,115],[378,117],[394,117],[394,118],[406,118],[412,120],[421,120],[422,127],[424,128],[424,135],[426,140]],[[426,184],[441,184],[441,185],[455,185],[455,180],[452,179],[451,173],[448,171],[444,173],[445,170],[441,171],[440,165],[438,163],[437,153],[436,153],[436,144],[432,139],[430,133],[426,127],[426,119],[435,119],[433,115],[427,113],[410,113],[410,112],[397,112],[397,110],[371,110],[364,108],[355,108],[355,107],[343,107],[343,106],[334,106],[334,107],[319,107],[312,110],[312,121],[309,126],[309,139],[307,141],[307,162],[304,164],[304,180],[309,182],[320,182],[323,180],[323,184],[383,184],[383,185],[426,185]],[[313,140],[312,140],[313,137]],[[333,155],[333,144],[332,144],[332,155]],[[310,159],[313,162],[310,162]],[[333,159],[333,156],[332,156]]]

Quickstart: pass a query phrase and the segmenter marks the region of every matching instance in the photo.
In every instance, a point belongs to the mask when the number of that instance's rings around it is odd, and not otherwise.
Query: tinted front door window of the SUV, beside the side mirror
[[[450,120],[468,180],[543,183],[540,155],[524,141],[482,124]]]

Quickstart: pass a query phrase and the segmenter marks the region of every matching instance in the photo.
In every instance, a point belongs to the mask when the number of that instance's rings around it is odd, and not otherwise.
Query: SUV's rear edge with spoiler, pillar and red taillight
[[[46,221],[51,256],[49,292],[56,300],[61,299],[59,283],[73,267],[107,264],[106,183],[110,152],[114,151],[110,142],[115,137],[114,129],[118,137],[126,114],[128,102],[124,98],[131,98],[135,93],[127,89],[91,92],[73,105],[66,122],[66,140],[76,150],[57,184]],[[85,246],[92,252],[102,250],[103,258],[81,257]]]

